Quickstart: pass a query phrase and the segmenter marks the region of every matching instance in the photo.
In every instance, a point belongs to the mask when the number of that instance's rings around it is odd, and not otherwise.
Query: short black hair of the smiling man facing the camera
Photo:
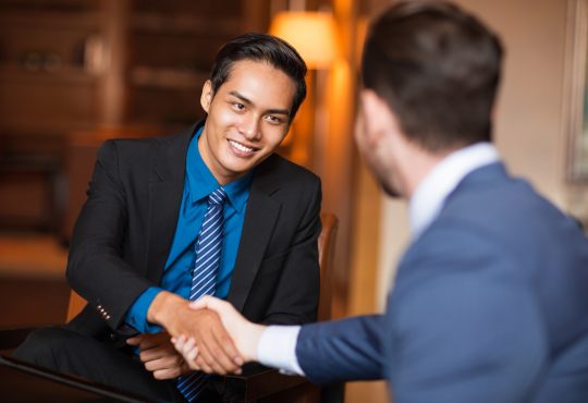
[[[290,110],[292,122],[306,98],[307,69],[296,49],[285,40],[267,34],[247,33],[233,38],[220,48],[215,58],[215,65],[210,72],[215,93],[229,78],[233,64],[241,60],[267,62],[292,78],[296,86]]]

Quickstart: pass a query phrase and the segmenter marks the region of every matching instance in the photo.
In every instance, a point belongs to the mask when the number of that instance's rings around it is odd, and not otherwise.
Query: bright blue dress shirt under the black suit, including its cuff
[[[155,296],[163,290],[188,298],[194,266],[194,243],[200,231],[208,207],[208,195],[220,187],[198,150],[198,138],[203,129],[192,138],[186,156],[186,176],[175,235],[166,262],[160,286],[150,286],[134,302],[126,314],[125,322],[140,333],[155,333],[161,327],[147,322],[147,310]],[[252,172],[224,185],[228,203],[224,204],[224,236],[220,268],[217,274],[216,296],[226,298],[231,277],[245,220],[245,207],[249,198]]]

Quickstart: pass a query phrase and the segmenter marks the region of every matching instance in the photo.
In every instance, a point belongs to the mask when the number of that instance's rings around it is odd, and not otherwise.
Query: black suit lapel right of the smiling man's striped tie
[[[266,181],[262,168],[258,168],[249,192],[235,269],[226,297],[237,310],[243,309],[249,295],[281,208],[280,203],[271,197],[278,184]]]

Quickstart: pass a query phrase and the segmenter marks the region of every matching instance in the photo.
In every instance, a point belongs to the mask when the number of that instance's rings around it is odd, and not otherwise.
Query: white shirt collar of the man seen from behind
[[[477,143],[450,154],[434,166],[408,203],[413,239],[416,240],[437,218],[450,193],[469,172],[499,160],[492,144]]]

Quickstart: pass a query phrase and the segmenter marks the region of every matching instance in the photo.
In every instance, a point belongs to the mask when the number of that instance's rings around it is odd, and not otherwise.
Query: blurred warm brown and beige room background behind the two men
[[[384,0],[0,0],[0,328],[63,320],[68,244],[95,154],[204,117],[213,56],[271,32],[306,59],[309,96],[280,152],[319,174],[340,219],[333,315],[373,313],[409,233],[353,144],[358,60]],[[494,138],[511,170],[588,218],[585,0],[457,0],[506,48]],[[10,307],[10,308],[7,308]],[[385,402],[382,382],[347,402]]]

